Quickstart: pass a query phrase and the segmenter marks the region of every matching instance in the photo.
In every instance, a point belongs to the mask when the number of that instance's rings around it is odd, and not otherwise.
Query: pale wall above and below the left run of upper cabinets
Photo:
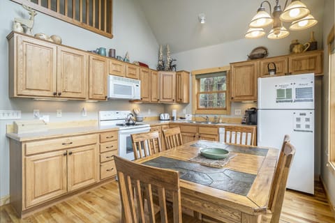
[[[34,33],[46,33],[61,36],[64,45],[83,50],[105,47],[116,49],[117,55],[129,52],[131,61],[147,63],[156,67],[158,43],[147,20],[135,0],[114,0],[113,33],[114,38],[105,38],[80,27],[39,13],[35,17]],[[8,43],[14,17],[28,17],[26,10],[12,1],[0,1],[0,110],[15,109],[22,111],[22,119],[32,119],[33,109],[39,109],[41,115],[50,115],[51,122],[97,119],[99,110],[121,110],[140,108],[144,116],[158,116],[163,112],[161,105],[135,105],[126,100],[108,102],[42,102],[28,98],[8,97]],[[81,117],[82,107],[87,108],[88,116]],[[56,117],[56,109],[62,109],[63,117]],[[151,114],[147,114],[151,109]],[[9,148],[6,139],[6,124],[12,121],[0,121],[0,198],[9,194]]]

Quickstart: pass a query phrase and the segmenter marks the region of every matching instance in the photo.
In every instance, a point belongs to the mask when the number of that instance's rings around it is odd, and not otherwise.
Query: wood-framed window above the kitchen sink
[[[193,70],[193,114],[230,114],[229,66]]]

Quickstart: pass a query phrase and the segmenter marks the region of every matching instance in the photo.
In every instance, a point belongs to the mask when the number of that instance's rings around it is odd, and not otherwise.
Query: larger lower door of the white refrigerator
[[[258,146],[281,149],[284,135],[296,148],[287,187],[314,193],[314,111],[258,110]]]

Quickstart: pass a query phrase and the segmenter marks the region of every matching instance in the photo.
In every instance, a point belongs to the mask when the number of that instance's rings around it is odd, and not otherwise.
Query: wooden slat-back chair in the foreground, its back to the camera
[[[178,171],[137,164],[117,155],[114,161],[119,179],[122,222],[159,222],[157,216],[161,222],[200,222],[181,213]],[[167,206],[167,197],[171,198],[172,206]],[[158,199],[159,208],[155,208],[154,199]],[[172,211],[169,211],[171,207]],[[155,209],[158,209],[158,215]]]

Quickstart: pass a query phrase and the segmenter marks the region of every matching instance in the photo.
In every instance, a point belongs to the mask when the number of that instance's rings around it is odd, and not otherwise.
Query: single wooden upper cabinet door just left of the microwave
[[[89,99],[107,99],[107,59],[89,56]]]

